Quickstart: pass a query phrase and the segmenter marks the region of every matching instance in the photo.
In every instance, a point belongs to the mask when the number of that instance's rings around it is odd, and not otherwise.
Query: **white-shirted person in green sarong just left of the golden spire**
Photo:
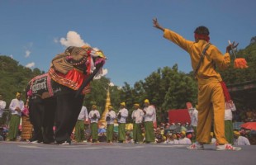
[[[97,134],[97,122],[100,118],[100,113],[97,111],[97,106],[93,105],[92,110],[89,113],[89,119],[91,120],[91,134],[92,134],[92,143],[97,142],[98,134]]]

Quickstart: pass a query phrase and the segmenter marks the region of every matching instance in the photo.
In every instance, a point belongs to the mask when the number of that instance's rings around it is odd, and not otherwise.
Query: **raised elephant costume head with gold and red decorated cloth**
[[[102,50],[69,46],[63,54],[58,54],[52,60],[48,74],[55,82],[86,94],[89,82],[102,73],[106,56]]]

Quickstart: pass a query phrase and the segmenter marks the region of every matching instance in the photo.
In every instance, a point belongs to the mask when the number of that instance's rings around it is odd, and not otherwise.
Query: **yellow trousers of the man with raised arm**
[[[220,82],[198,85],[197,142],[211,142],[211,122],[218,144],[227,144],[225,139],[225,98]]]

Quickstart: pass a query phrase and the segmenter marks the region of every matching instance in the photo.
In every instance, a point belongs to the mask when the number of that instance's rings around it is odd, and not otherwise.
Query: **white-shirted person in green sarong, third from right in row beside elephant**
[[[128,117],[128,110],[126,109],[126,103],[121,102],[120,110],[117,113],[119,143],[123,143],[126,140],[126,118],[127,117]]]

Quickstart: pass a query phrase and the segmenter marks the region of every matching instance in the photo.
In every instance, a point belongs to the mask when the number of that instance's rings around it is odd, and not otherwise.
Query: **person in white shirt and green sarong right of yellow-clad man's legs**
[[[225,139],[229,142],[229,144],[234,144],[234,134],[233,134],[233,115],[232,111],[235,111],[235,104],[233,101],[225,102]]]

